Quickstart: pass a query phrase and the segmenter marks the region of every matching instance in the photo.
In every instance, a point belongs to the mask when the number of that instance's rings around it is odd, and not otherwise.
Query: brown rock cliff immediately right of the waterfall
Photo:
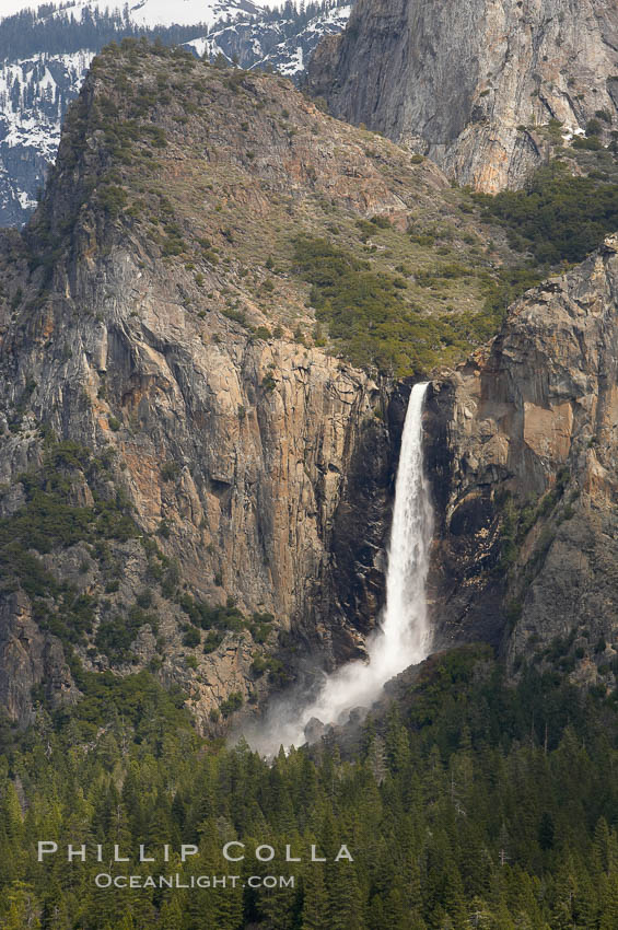
[[[558,655],[576,650],[574,676],[594,662],[609,670],[618,641],[617,293],[618,256],[608,249],[527,293],[486,351],[435,382],[428,429],[442,514],[432,582],[439,642],[485,632],[502,640],[512,667],[562,643]]]

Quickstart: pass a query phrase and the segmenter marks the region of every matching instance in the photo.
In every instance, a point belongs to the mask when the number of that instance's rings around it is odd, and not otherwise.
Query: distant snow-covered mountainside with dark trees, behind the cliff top
[[[155,5],[123,11],[89,0],[0,19],[0,225],[20,226],[32,214],[56,158],[67,106],[94,55],[110,40],[159,36],[165,44],[184,43],[198,57],[275,68],[300,82],[319,39],[340,32],[350,13],[349,5],[317,3],[302,11],[246,2]],[[178,21],[186,25],[170,25]]]

